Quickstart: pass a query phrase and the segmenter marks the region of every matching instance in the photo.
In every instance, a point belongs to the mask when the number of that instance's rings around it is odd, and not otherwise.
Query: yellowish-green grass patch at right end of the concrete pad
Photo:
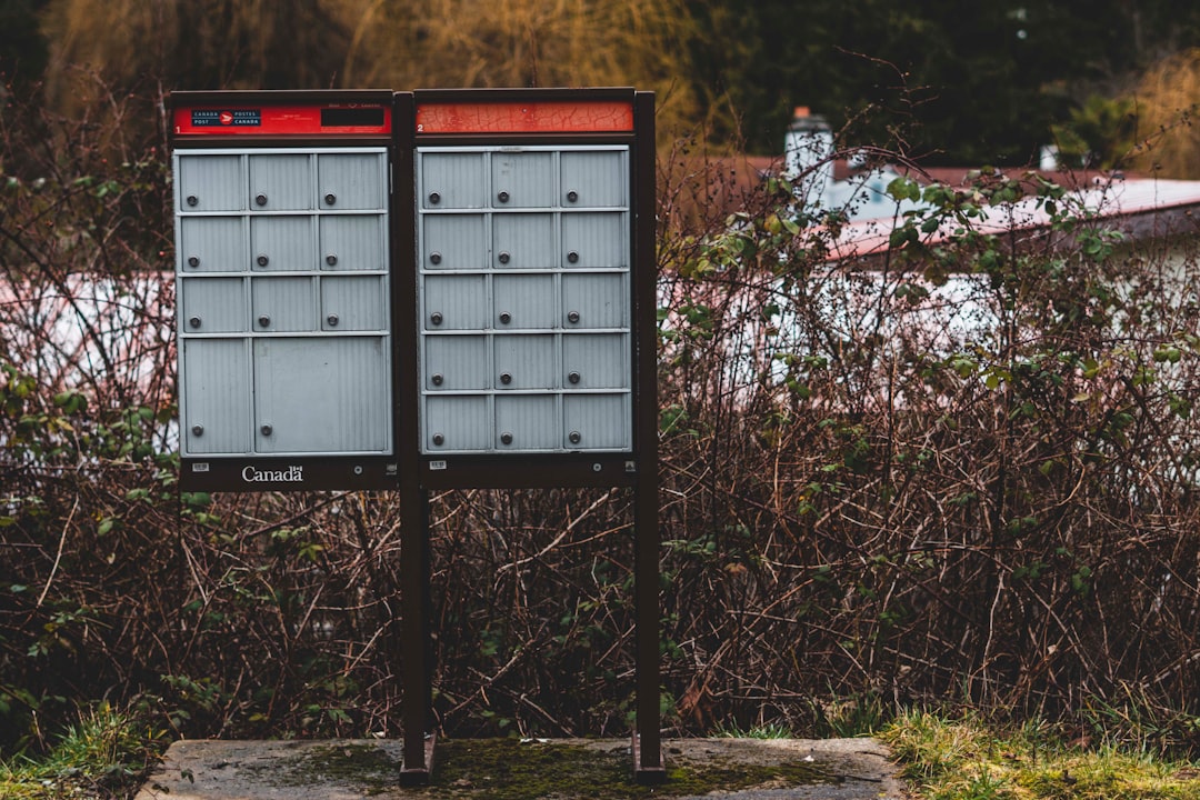
[[[1038,723],[1000,732],[913,711],[877,735],[926,800],[1200,800],[1196,764],[1069,747]]]

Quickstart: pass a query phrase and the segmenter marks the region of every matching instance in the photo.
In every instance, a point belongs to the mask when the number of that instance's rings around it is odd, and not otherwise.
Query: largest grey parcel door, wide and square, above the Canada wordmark
[[[385,342],[356,336],[256,339],[258,451],[386,452],[391,381]]]

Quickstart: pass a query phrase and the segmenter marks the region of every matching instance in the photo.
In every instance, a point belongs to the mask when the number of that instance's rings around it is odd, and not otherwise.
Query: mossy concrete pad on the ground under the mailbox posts
[[[176,741],[136,800],[722,798],[905,800],[874,739],[666,739],[668,780],[632,781],[618,740],[450,740],[428,787],[398,783],[400,740]]]

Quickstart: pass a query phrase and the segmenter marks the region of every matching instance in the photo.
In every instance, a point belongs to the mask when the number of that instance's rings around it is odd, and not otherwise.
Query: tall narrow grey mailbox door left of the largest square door
[[[246,359],[240,338],[180,343],[185,456],[250,452]]]

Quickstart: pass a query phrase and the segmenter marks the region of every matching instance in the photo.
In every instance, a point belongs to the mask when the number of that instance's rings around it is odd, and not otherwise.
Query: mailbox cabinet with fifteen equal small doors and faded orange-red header
[[[424,486],[632,482],[656,405],[637,95],[415,92]]]

